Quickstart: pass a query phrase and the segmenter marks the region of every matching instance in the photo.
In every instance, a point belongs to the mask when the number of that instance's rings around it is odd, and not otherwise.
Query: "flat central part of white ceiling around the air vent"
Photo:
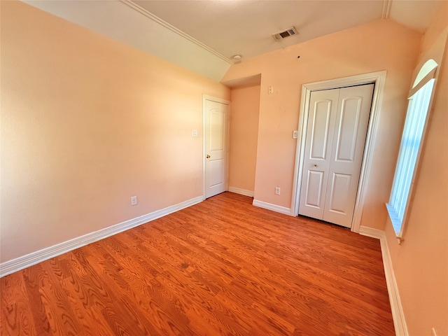
[[[225,57],[252,57],[381,18],[382,1],[137,1]],[[272,34],[294,26],[282,41]]]

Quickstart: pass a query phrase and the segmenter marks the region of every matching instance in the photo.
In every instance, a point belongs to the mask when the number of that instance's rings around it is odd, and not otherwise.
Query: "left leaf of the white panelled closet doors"
[[[300,187],[299,214],[322,218],[330,168],[331,146],[335,128],[338,91],[311,94],[309,122]]]

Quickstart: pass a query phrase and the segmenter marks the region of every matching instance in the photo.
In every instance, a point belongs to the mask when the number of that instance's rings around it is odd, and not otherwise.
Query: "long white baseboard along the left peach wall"
[[[110,237],[112,235],[116,235],[117,233],[123,232],[125,230],[129,230],[131,228],[135,228],[144,223],[148,223],[150,221],[154,221],[157,218],[166,216],[168,214],[172,214],[181,209],[185,209],[187,207],[191,207],[194,204],[202,202],[202,196],[192,198],[191,200],[187,200],[185,202],[181,202],[179,204],[174,204],[170,207],[166,207],[164,209],[156,210],[151,212],[150,214],[146,214],[137,218],[132,218],[129,221],[125,221],[122,223],[118,223],[116,225],[109,226],[108,228],[104,228],[102,230],[98,230],[95,232],[87,233],[87,235],[83,235],[80,237],[76,237],[74,239],[70,239],[64,241],[62,243],[43,248],[39,251],[35,251],[29,253],[27,255],[22,255],[19,258],[15,258],[13,260],[8,260],[6,262],[0,263],[0,278],[2,276],[6,276],[8,274],[20,271],[20,269],[27,268],[32,265],[36,265],[39,262],[44,260],[48,260],[57,255],[61,255],[62,253],[66,253],[72,251],[76,248],[80,248],[87,244],[93,243],[94,241],[99,241],[101,239]]]

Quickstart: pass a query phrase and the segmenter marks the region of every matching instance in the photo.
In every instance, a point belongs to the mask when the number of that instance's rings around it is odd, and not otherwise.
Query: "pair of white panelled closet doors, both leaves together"
[[[373,88],[311,92],[300,215],[351,227]]]

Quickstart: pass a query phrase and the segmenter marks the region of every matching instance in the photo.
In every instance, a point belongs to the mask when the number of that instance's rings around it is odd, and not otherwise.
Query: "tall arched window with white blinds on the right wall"
[[[400,152],[393,177],[391,198],[386,204],[395,234],[400,238],[399,241],[402,238],[409,211],[416,168],[428,122],[428,110],[433,94],[436,69],[437,63],[433,59],[429,59],[421,66],[412,89],[409,91],[405,127],[402,132]]]

